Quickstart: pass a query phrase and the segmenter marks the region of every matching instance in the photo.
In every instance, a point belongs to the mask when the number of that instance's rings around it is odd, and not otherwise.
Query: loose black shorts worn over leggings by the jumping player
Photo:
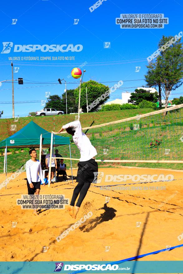
[[[98,163],[95,159],[78,163],[76,182],[96,183],[98,174]]]

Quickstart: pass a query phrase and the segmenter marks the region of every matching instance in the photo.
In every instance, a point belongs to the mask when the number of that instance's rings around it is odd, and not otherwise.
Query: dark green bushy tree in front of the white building
[[[131,93],[130,100],[134,101],[134,105],[138,105],[143,100],[150,101],[156,103],[158,101],[158,93],[157,92],[147,92],[145,89],[135,89],[134,93]]]

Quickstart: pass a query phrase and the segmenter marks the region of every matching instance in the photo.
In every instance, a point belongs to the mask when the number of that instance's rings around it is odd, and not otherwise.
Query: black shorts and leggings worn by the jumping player
[[[87,191],[91,183],[96,179],[96,172],[98,172],[98,164],[95,162],[95,159],[90,159],[88,161],[78,163],[78,172],[77,186],[74,189],[73,196],[70,202],[70,205],[74,206],[75,201],[79,195],[76,206],[80,207],[84,197],[86,196]]]

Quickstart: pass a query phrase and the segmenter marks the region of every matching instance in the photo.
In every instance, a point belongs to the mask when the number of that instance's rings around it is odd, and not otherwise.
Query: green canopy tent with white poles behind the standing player
[[[6,175],[7,175],[7,148],[40,148],[40,161],[41,161],[41,149],[42,147],[48,148],[51,146],[51,133],[47,130],[44,130],[39,125],[31,121],[21,130],[17,131],[12,136],[2,140],[0,142],[0,148],[5,149],[4,154],[4,173],[6,166]],[[70,148],[70,138],[55,135],[54,145],[69,145]],[[71,151],[70,151],[71,158]],[[71,172],[72,172],[72,162],[71,162]]]

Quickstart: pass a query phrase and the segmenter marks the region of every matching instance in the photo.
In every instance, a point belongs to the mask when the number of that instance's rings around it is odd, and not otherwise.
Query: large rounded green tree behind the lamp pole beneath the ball
[[[86,87],[87,87],[87,97],[88,97],[88,105],[92,104],[97,98],[99,98],[101,95],[103,95],[105,92],[109,90],[108,86],[105,86],[101,83],[98,83],[93,80],[89,80],[88,82],[81,84],[81,97],[80,97],[80,107],[82,108],[83,112],[86,112]],[[105,97],[105,98],[104,98]],[[79,102],[79,87],[75,89],[75,98],[76,98],[76,104]],[[103,99],[104,98],[104,99]],[[108,96],[103,96],[103,98],[100,98],[100,100],[97,102],[97,104],[91,109],[91,111],[97,110],[97,108],[101,105],[103,105],[108,99]]]

